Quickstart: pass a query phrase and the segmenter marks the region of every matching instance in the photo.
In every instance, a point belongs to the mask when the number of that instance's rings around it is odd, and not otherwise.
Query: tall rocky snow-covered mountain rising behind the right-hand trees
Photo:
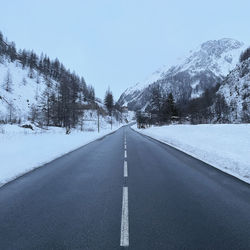
[[[157,84],[163,94],[172,92],[176,100],[199,97],[234,69],[244,48],[243,43],[229,38],[207,41],[190,51],[178,65],[164,67],[146,81],[128,88],[118,102],[132,110],[145,108],[151,89]]]

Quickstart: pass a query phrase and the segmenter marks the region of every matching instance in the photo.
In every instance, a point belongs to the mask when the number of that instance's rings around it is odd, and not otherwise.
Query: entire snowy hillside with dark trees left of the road
[[[93,112],[89,112],[92,110]],[[38,126],[82,126],[90,113],[122,119],[95,97],[93,86],[58,59],[18,50],[0,33],[0,122]]]

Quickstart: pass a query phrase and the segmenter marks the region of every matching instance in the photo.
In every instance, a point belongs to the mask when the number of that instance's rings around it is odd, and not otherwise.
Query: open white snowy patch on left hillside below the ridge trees
[[[6,91],[4,83],[9,74],[11,90]],[[43,76],[22,68],[21,64],[5,60],[0,63],[0,120],[27,120],[32,105],[37,105],[39,98],[46,88]],[[53,80],[51,80],[55,84]]]

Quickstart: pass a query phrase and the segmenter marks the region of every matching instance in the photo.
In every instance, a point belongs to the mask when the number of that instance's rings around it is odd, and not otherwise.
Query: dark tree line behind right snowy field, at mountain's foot
[[[219,87],[220,84],[217,84],[206,89],[198,98],[176,102],[171,92],[162,96],[159,86],[155,86],[151,90],[151,101],[145,111],[137,111],[137,123],[139,127],[145,127],[173,122],[192,124],[228,122],[229,106],[224,96],[216,94]]]

